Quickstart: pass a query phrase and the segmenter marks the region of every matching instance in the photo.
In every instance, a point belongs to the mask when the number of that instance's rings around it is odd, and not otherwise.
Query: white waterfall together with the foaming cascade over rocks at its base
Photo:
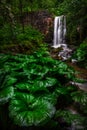
[[[62,51],[58,56],[66,60],[70,57],[71,49],[65,44],[66,37],[66,17],[64,15],[55,17],[54,19],[54,39],[53,48],[62,47]]]

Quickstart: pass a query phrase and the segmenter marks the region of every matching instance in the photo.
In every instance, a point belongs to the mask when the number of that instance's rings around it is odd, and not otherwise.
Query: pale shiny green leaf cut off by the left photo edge
[[[4,104],[9,101],[14,95],[14,88],[7,87],[0,91],[0,104]]]

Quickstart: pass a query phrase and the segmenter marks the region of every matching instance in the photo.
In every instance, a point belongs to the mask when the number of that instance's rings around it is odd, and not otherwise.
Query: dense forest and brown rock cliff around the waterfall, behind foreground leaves
[[[65,15],[66,42],[79,47],[73,57],[86,64],[86,9],[86,0],[1,0],[0,52],[31,53],[52,45],[54,17]]]

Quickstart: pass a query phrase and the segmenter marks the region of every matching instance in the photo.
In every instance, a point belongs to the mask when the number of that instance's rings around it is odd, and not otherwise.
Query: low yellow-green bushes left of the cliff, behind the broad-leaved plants
[[[1,52],[29,54],[43,46],[43,35],[32,26],[25,27],[24,32],[21,26],[16,27],[14,30],[14,38],[11,36],[12,34],[8,25],[5,26],[5,28],[0,30]]]

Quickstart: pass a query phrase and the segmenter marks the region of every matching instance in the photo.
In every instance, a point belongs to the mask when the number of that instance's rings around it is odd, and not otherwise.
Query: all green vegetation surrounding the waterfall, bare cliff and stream
[[[73,58],[87,68],[86,9],[86,0],[0,0],[1,129],[43,126],[65,130],[73,124],[77,130],[79,126],[87,129],[87,92],[70,84],[80,81],[76,72],[50,57],[32,17],[30,25],[24,19],[43,10],[52,17],[65,15],[67,44],[77,47]],[[76,113],[69,108],[72,105]]]

